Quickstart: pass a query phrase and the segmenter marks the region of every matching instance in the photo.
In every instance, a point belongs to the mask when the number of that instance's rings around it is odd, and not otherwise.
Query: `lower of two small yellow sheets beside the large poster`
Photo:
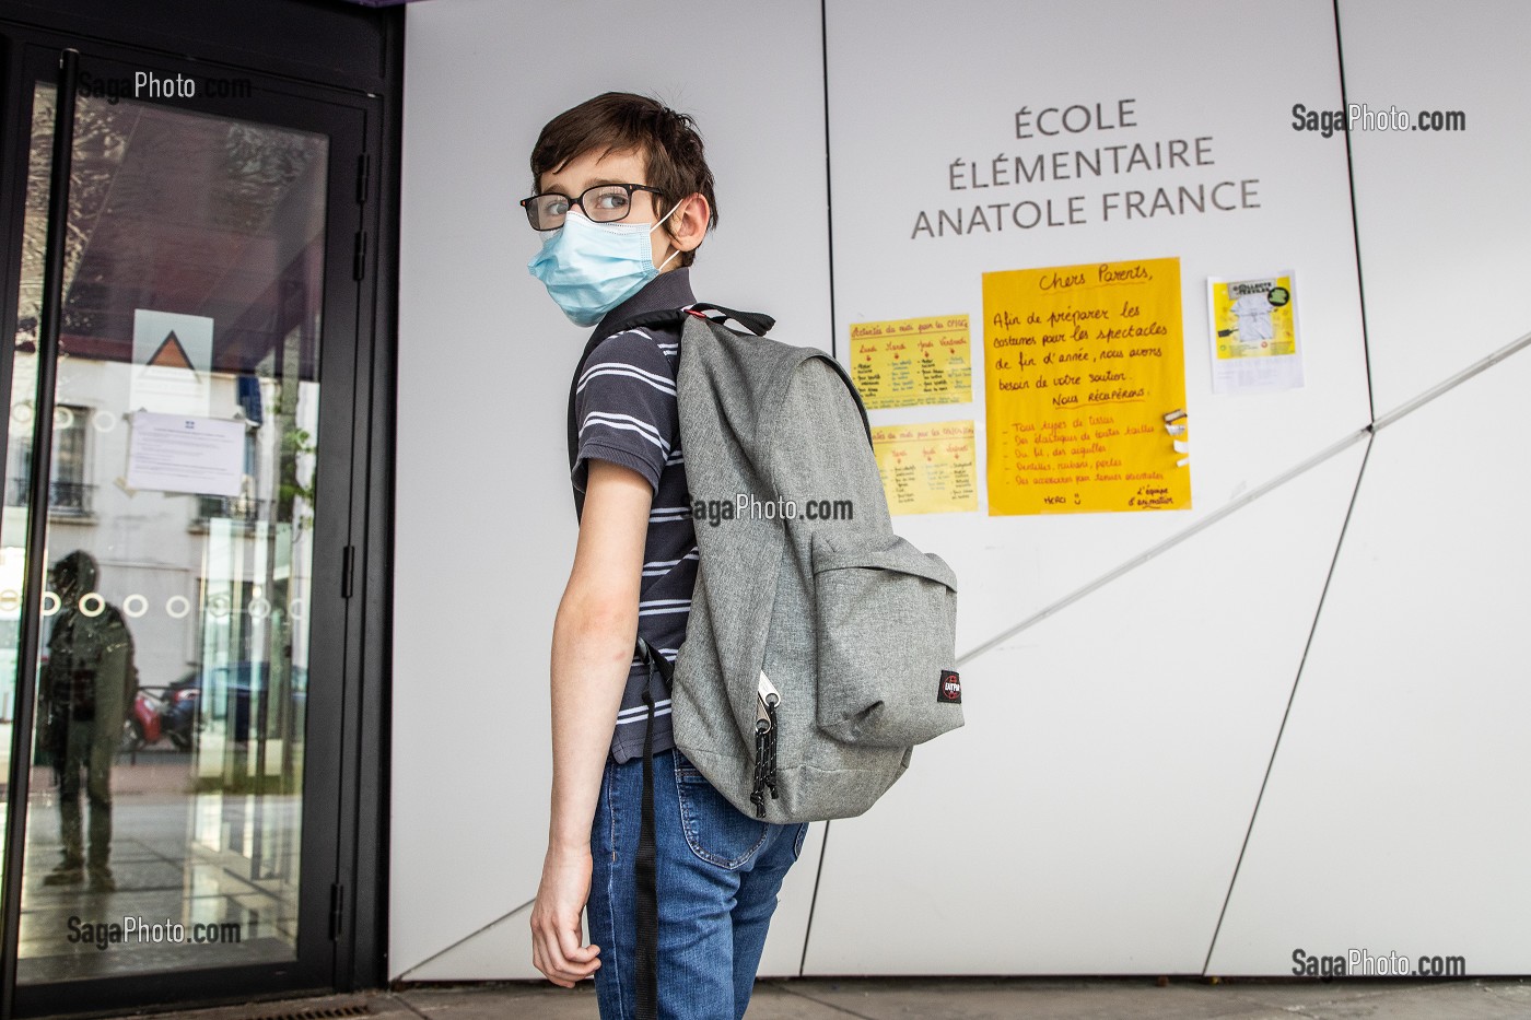
[[[972,421],[879,426],[871,430],[891,513],[978,508]]]

